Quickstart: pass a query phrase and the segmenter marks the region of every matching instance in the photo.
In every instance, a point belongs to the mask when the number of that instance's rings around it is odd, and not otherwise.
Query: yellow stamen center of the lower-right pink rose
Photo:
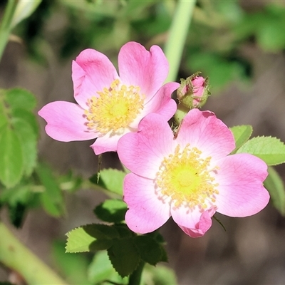
[[[210,173],[218,167],[209,170],[212,157],[202,158],[201,154],[197,147],[188,144],[182,151],[177,145],[174,154],[164,157],[156,180],[162,199],[170,197],[175,207],[198,206],[200,209],[216,201],[218,184]]]

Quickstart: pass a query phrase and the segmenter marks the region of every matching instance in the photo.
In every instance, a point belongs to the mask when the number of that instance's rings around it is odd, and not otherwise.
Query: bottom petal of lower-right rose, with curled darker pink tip
[[[215,207],[200,212],[196,207],[192,211],[187,207],[172,208],[171,215],[178,226],[190,237],[202,237],[212,226]]]

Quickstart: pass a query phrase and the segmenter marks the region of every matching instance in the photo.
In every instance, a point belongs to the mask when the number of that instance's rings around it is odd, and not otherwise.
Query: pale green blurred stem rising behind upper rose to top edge
[[[179,0],[177,3],[165,45],[165,56],[170,64],[170,73],[165,82],[176,80],[195,4],[196,0]]]

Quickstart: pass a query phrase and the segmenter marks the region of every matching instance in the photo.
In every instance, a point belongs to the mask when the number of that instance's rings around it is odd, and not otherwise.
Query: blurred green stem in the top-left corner
[[[9,0],[4,11],[4,16],[0,25],[0,60],[3,56],[6,44],[8,43],[11,30],[11,21],[13,19],[18,2],[19,0]]]

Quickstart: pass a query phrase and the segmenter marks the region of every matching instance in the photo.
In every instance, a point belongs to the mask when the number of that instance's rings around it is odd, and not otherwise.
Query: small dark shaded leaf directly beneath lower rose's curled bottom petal
[[[133,239],[134,244],[138,247],[138,252],[143,261],[155,265],[162,261],[162,251],[160,244],[147,236],[137,236]]]

